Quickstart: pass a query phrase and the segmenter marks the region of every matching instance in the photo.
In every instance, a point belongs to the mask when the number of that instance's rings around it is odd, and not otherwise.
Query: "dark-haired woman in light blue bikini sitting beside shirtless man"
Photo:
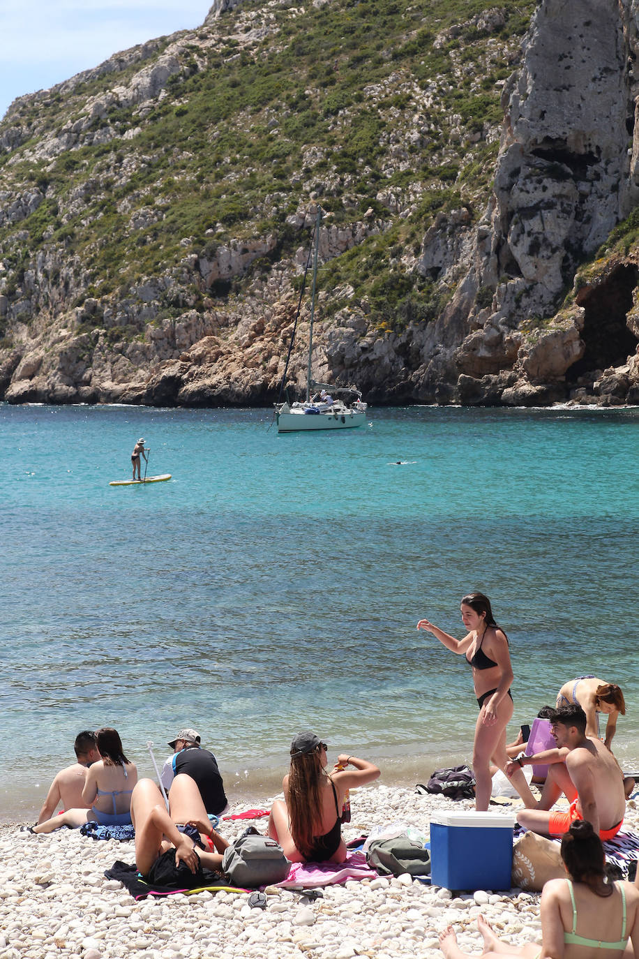
[[[86,773],[82,802],[90,808],[65,809],[60,816],[34,826],[34,832],[53,832],[60,826],[78,829],[84,823],[102,826],[130,826],[131,792],[138,781],[138,770],[123,751],[122,739],[110,727],[96,733],[101,759]]]

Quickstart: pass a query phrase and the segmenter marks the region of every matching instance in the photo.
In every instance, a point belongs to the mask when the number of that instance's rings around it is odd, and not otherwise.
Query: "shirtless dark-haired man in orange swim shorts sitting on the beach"
[[[601,739],[585,735],[586,717],[581,706],[562,706],[549,719],[557,749],[536,756],[521,756],[506,767],[512,775],[517,766],[550,763],[548,777],[536,808],[517,812],[520,826],[543,835],[567,832],[574,819],[585,819],[602,839],[619,832],[626,811],[623,774],[617,760]],[[568,812],[551,812],[564,794]]]

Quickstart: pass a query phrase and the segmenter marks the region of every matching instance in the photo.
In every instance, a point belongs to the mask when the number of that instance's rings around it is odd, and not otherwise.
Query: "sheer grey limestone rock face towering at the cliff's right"
[[[633,6],[545,0],[537,8],[522,67],[504,88],[494,193],[460,285],[474,303],[467,310],[468,296],[459,292],[449,311],[466,314],[468,332],[454,351],[462,376],[483,382],[514,369],[522,384],[551,384],[555,394],[582,359],[582,322],[573,316],[569,328],[555,328],[550,318],[579,258],[592,254],[637,201],[639,151],[628,155]],[[480,291],[491,292],[489,309],[478,302]],[[513,329],[539,317],[549,322],[535,342]],[[468,395],[466,381],[458,387]],[[541,399],[539,389],[523,386],[516,396]],[[503,400],[513,402],[513,393]]]

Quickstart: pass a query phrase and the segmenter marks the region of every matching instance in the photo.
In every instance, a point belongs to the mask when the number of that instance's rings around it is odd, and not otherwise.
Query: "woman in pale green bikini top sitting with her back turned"
[[[608,882],[602,840],[590,823],[574,822],[561,839],[561,858],[569,878],[551,879],[541,894],[541,946],[503,942],[483,916],[482,959],[639,959],[639,890],[630,882]],[[579,929],[579,932],[577,931]],[[469,959],[448,926],[440,936],[445,959]]]

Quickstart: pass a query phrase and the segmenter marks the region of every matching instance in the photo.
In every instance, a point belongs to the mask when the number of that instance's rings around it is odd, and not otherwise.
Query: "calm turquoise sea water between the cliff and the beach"
[[[109,487],[138,436],[171,481]],[[470,670],[415,625],[463,635],[471,589],[511,640],[513,737],[592,672],[624,689],[615,752],[639,761],[639,409],[278,436],[262,409],[0,405],[0,449],[5,819],[101,725],[151,774],[148,741],[159,761],[194,726],[232,798],[278,791],[304,728],[389,784],[468,760]]]

